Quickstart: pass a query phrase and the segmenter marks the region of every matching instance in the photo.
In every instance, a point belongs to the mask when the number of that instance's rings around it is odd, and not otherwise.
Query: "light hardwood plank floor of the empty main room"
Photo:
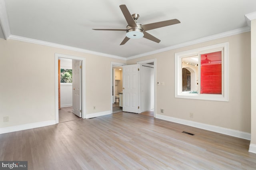
[[[28,160],[30,170],[255,170],[256,154],[248,152],[249,144],[224,134],[120,112],[0,134],[0,160]]]

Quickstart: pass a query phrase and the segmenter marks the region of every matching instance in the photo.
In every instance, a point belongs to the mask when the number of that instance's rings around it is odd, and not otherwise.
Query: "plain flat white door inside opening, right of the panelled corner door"
[[[141,112],[154,109],[154,68],[141,67]]]

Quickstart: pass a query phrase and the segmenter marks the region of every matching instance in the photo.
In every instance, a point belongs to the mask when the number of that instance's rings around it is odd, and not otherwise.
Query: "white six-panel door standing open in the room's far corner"
[[[123,111],[139,113],[139,64],[123,65]]]

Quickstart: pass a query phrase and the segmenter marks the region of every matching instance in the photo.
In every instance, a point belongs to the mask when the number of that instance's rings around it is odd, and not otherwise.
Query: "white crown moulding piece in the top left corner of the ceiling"
[[[4,33],[4,39],[7,40],[10,37],[11,32],[4,0],[0,0],[0,25]]]

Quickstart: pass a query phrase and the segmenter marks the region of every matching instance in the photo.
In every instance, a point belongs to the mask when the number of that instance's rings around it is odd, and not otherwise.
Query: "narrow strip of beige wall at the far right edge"
[[[251,111],[251,144],[256,145],[256,20],[251,21],[251,95],[252,95],[252,111]],[[254,150],[255,152],[255,150]]]

